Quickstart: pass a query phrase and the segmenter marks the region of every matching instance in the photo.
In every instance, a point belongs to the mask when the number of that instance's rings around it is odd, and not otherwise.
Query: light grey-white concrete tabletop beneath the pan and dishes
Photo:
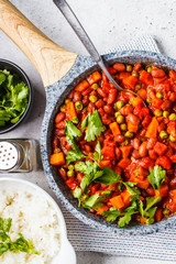
[[[81,43],[69,28],[52,0],[11,0],[37,28],[57,44],[68,51],[86,54]],[[133,36],[151,34],[161,51],[176,58],[176,1],[175,0],[68,0],[80,22],[101,53],[129,41]],[[20,65],[29,75],[35,89],[34,105],[28,122],[3,138],[40,139],[40,130],[45,109],[45,92],[42,80],[22,52],[0,32],[0,57]],[[6,175],[4,175],[6,176]],[[29,175],[12,177],[28,178]],[[44,173],[30,174],[29,180],[40,186],[46,183]],[[51,193],[50,188],[45,188]],[[52,193],[51,193],[52,194]],[[78,264],[161,264],[157,260],[140,260],[108,256],[100,253],[78,252]],[[163,262],[168,264],[169,262]]]

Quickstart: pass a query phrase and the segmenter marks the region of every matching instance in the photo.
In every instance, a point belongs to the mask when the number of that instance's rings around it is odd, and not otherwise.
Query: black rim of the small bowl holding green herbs
[[[28,87],[29,87],[29,103],[28,103],[28,107],[26,107],[24,113],[22,114],[22,117],[20,118],[20,120],[19,120],[16,123],[10,125],[10,127],[7,128],[7,129],[6,129],[6,125],[4,125],[4,130],[1,130],[1,131],[0,131],[0,134],[3,134],[3,133],[7,133],[7,132],[13,130],[15,127],[18,127],[18,125],[26,118],[26,116],[28,116],[28,113],[29,113],[29,111],[31,110],[31,107],[32,107],[33,87],[32,87],[32,85],[31,85],[31,81],[30,81],[28,75],[25,74],[25,72],[24,72],[19,65],[16,65],[16,64],[14,64],[13,62],[10,62],[10,61],[8,61],[8,59],[4,59],[4,58],[0,58],[0,64],[1,64],[1,63],[2,63],[2,64],[4,63],[4,64],[11,66],[12,68],[14,68],[14,72],[16,70],[16,74],[19,74],[20,77],[22,76],[22,77],[24,78],[24,80],[25,80],[25,82],[26,82],[26,85],[28,85]]]

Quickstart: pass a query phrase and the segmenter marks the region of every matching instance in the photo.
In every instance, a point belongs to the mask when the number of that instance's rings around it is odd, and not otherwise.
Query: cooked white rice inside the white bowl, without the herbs
[[[59,224],[55,209],[47,198],[33,188],[18,188],[15,185],[0,188],[0,217],[12,218],[10,237],[12,241],[22,233],[31,240],[41,254],[6,252],[0,256],[4,264],[50,264],[59,251]]]

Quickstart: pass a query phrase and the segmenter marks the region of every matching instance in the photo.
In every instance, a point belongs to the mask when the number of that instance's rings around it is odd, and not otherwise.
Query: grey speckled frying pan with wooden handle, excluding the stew
[[[46,110],[42,125],[41,153],[43,166],[50,185],[62,204],[78,219],[94,228],[124,233],[151,233],[176,226],[175,217],[152,226],[135,224],[118,229],[117,224],[108,223],[84,208],[78,208],[69,189],[58,177],[57,168],[51,167],[48,156],[52,153],[52,131],[55,114],[72,89],[90,75],[98,66],[90,57],[69,53],[57,46],[38,31],[9,1],[0,0],[0,28],[25,53],[36,67],[46,89]],[[148,52],[121,52],[103,56],[109,64],[121,63],[156,63],[176,70],[176,61]]]

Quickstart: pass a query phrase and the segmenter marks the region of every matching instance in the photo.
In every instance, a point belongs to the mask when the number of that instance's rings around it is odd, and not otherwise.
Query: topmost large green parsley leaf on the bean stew
[[[97,110],[94,110],[92,113],[89,113],[81,123],[81,128],[86,129],[85,140],[87,142],[95,141],[96,136],[99,136],[101,132],[105,131],[100,116]]]

